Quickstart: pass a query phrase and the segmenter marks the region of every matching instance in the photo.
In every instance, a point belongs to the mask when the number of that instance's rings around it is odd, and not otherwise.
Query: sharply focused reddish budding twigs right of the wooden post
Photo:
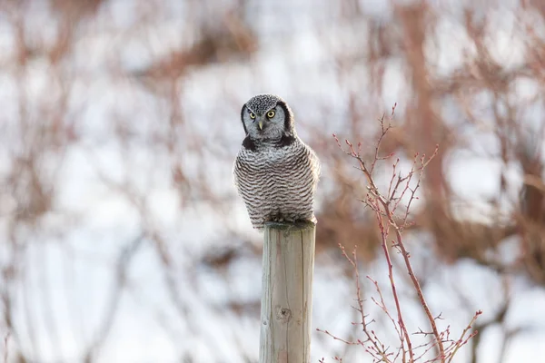
[[[392,115],[394,110],[395,110],[395,106],[392,107],[392,113],[391,113]],[[386,308],[386,304],[382,297],[379,284],[375,280],[372,280],[370,277],[367,277],[374,284],[377,290],[377,293],[379,294],[379,297],[380,297],[380,302],[373,298],[372,298],[372,301],[379,308],[381,308],[382,311],[388,317],[388,319],[391,320],[394,326],[394,329],[396,330],[398,337],[400,338],[401,347],[399,348],[397,355],[394,357],[394,360],[398,358],[399,355],[402,353],[401,358],[403,362],[406,361],[407,355],[409,356],[409,361],[414,362],[423,358],[426,354],[428,354],[428,352],[431,349],[437,348],[439,350],[438,355],[429,361],[439,360],[441,362],[450,363],[451,359],[457,353],[458,349],[461,348],[464,344],[466,344],[467,341],[476,334],[476,332],[473,332],[471,333],[471,335],[466,337],[467,331],[471,329],[471,325],[473,324],[475,319],[477,319],[480,312],[475,314],[475,316],[471,320],[471,323],[468,325],[466,329],[463,330],[463,332],[461,333],[461,338],[459,338],[458,340],[453,341],[449,338],[450,336],[449,328],[440,332],[439,329],[437,328],[437,324],[435,320],[441,319],[441,314],[437,317],[433,317],[433,315],[431,314],[431,309],[428,303],[426,302],[426,299],[424,298],[424,294],[422,292],[420,282],[415,276],[414,271],[412,270],[411,260],[410,260],[411,254],[406,249],[402,236],[401,236],[401,232],[404,230],[404,228],[411,223],[409,221],[409,212],[411,210],[412,201],[418,199],[416,192],[420,188],[421,178],[422,178],[424,169],[428,166],[431,160],[433,160],[433,158],[439,152],[439,145],[435,147],[435,150],[432,152],[431,156],[428,158],[426,158],[425,154],[419,155],[418,153],[416,153],[412,160],[411,170],[404,175],[402,175],[401,172],[398,171],[400,160],[397,159],[395,162],[393,162],[392,174],[391,174],[390,183],[388,185],[388,191],[386,194],[382,194],[381,191],[379,191],[379,188],[374,181],[373,172],[375,170],[375,166],[377,165],[378,161],[390,159],[391,156],[393,156],[393,154],[388,154],[386,156],[381,156],[380,154],[381,142],[384,136],[386,135],[386,133],[391,130],[392,126],[391,126],[391,123],[388,123],[388,125],[384,124],[384,116],[382,116],[379,119],[379,122],[381,124],[381,133],[379,135],[378,142],[376,143],[374,148],[374,155],[373,155],[372,162],[369,165],[366,164],[362,158],[361,143],[358,143],[358,146],[356,149],[354,148],[352,142],[345,140],[345,143],[348,146],[348,149],[345,150],[342,147],[341,142],[339,142],[339,139],[337,138],[337,136],[333,134],[333,137],[335,141],[337,142],[337,145],[342,149],[342,151],[350,155],[352,158],[354,158],[358,162],[357,169],[363,173],[368,183],[368,186],[367,186],[368,192],[366,197],[362,200],[362,202],[365,203],[365,205],[368,206],[375,213],[376,221],[377,221],[379,230],[381,231],[381,248],[382,248],[384,257],[386,259],[386,262],[388,264],[388,277],[390,280],[393,301],[396,307],[397,321],[392,318],[391,313]],[[414,185],[414,186],[411,186],[411,185]],[[407,198],[408,201],[406,202],[406,205],[404,206],[403,211],[401,212],[401,215],[398,216],[396,214],[396,211],[398,207],[400,207],[401,201],[404,200],[404,198]],[[430,342],[426,344],[422,344],[417,347],[413,347],[411,342],[411,336],[407,331],[407,326],[403,319],[403,314],[401,310],[401,302],[399,299],[396,283],[393,278],[393,264],[391,261],[391,254],[390,254],[390,249],[388,246],[388,236],[390,234],[391,229],[393,233],[395,234],[394,240],[391,240],[392,246],[401,253],[401,257],[404,262],[404,267],[410,276],[412,286],[414,290],[416,291],[418,300],[431,326],[431,332],[424,332],[420,330],[419,332],[415,333],[415,334],[421,334],[423,336],[433,337],[433,339]],[[342,254],[347,260],[349,260],[349,262],[352,264],[352,267],[355,271],[357,300],[359,305],[358,311],[360,311],[362,315],[362,329],[367,338],[366,342],[372,343],[372,345],[369,346],[369,348],[365,347],[364,344],[363,346],[366,348],[366,350],[372,352],[373,358],[375,359],[381,358],[381,361],[391,362],[390,357],[392,356],[392,353],[387,354],[386,350],[388,350],[388,348],[385,348],[384,345],[381,344],[380,339],[376,336],[373,330],[370,331],[367,329],[369,323],[366,321],[367,316],[363,313],[363,301],[361,299],[361,289],[360,289],[360,275],[357,269],[357,260],[356,260],[355,251],[352,253],[352,256],[353,256],[352,259],[346,254],[346,251],[343,248],[342,248]],[[326,334],[329,334],[327,331],[324,331],[324,332]],[[331,334],[329,335],[332,336]],[[353,344],[341,338],[337,338],[334,336],[332,337],[336,338],[337,340],[342,340],[347,344]],[[447,348],[445,348],[445,343],[451,343],[451,344]],[[415,350],[419,348],[424,350],[422,353],[419,353],[418,356],[415,356]]]

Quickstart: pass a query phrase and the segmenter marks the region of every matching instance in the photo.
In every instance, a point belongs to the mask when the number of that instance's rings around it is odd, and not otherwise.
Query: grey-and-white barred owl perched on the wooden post
[[[290,106],[258,94],[241,112],[246,136],[233,166],[234,184],[253,228],[267,221],[312,221],[320,161],[297,136]]]

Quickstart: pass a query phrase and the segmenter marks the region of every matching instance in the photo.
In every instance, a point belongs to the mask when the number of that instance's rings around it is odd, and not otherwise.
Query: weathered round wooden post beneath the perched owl
[[[264,228],[260,363],[310,363],[313,223]]]

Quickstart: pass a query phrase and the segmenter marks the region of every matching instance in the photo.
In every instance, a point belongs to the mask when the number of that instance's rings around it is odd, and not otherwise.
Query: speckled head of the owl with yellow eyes
[[[273,94],[258,94],[244,103],[241,119],[253,140],[277,140],[295,133],[290,106]]]

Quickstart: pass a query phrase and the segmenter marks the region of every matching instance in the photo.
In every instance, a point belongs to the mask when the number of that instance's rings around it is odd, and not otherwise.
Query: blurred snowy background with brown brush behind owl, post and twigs
[[[262,236],[231,174],[256,93],[291,104],[322,160],[314,328],[362,338],[338,243],[391,300],[332,133],[371,157],[397,103],[384,153],[406,167],[441,145],[414,269],[441,329],[483,310],[455,361],[542,361],[544,17],[540,0],[0,1],[0,361],[257,362]],[[372,361],[315,332],[312,361],[334,356]]]

